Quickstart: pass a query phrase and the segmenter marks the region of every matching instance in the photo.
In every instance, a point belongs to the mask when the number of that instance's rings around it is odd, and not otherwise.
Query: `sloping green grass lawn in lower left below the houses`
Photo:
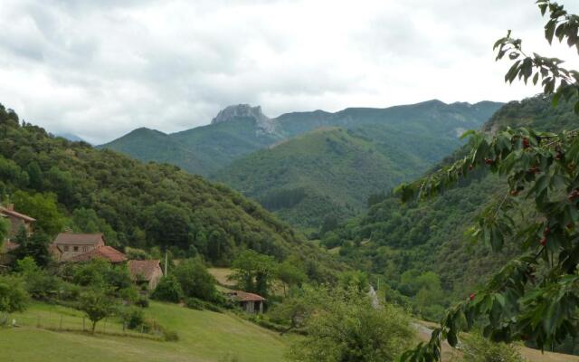
[[[178,342],[158,342],[130,337],[90,336],[82,333],[53,332],[36,329],[41,320],[59,320],[66,313],[64,327],[81,325],[81,314],[75,310],[33,304],[24,315],[14,318],[24,326],[0,329],[2,361],[30,362],[97,362],[97,361],[219,361],[226,355],[242,362],[282,361],[289,339],[261,329],[230,314],[188,310],[174,304],[151,303],[147,315],[167,329],[176,330]],[[44,323],[44,322],[42,322]],[[56,322],[55,322],[56,323]],[[67,325],[68,323],[68,325]],[[108,322],[107,330],[119,330]],[[98,328],[100,330],[100,328]]]

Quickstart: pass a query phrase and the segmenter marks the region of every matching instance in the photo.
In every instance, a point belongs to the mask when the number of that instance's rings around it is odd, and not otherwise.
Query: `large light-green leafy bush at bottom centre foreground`
[[[410,320],[390,305],[375,309],[357,290],[319,291],[308,336],[289,352],[296,361],[394,361],[413,339]]]

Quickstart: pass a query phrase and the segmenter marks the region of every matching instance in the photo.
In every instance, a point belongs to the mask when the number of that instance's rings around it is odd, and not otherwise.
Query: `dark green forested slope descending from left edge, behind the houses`
[[[52,235],[66,227],[105,232],[113,245],[199,253],[223,265],[245,248],[278,260],[324,258],[287,224],[225,186],[175,166],[53,138],[20,125],[14,111],[1,106],[0,195]]]

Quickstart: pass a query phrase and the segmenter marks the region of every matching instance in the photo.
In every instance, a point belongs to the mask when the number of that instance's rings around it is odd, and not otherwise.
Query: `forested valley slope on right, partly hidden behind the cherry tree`
[[[483,129],[560,130],[575,124],[570,105],[553,108],[550,100],[536,97],[508,103]],[[492,253],[488,245],[470,243],[464,234],[474,216],[505,190],[505,180],[483,170],[473,171],[432,202],[403,205],[397,196],[384,196],[366,214],[325,233],[322,243],[328,248],[339,246],[344,260],[382,275],[382,281],[394,290],[391,298],[411,303],[426,317],[435,318],[441,306],[468,296],[476,284],[517,253],[512,246],[501,254]]]

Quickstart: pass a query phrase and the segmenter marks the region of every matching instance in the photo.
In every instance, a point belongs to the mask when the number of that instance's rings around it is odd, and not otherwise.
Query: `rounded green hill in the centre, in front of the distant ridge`
[[[425,162],[352,129],[318,129],[233,161],[212,176],[301,228],[354,216],[368,195],[419,176]]]

